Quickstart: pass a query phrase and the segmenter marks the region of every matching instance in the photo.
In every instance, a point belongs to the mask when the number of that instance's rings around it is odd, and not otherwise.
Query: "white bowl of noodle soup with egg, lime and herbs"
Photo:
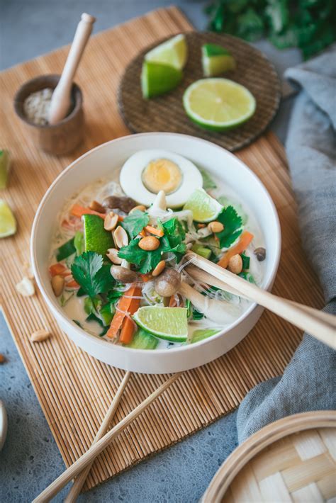
[[[262,307],[194,279],[190,252],[271,289],[279,219],[269,193],[235,155],[164,132],[87,152],[40,203],[33,271],[74,344],[109,365],[171,373],[238,344]]]

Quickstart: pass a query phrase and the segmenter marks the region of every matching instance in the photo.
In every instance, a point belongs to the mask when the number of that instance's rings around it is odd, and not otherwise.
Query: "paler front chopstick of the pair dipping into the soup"
[[[192,257],[194,265],[208,272],[211,276],[227,283],[228,286],[237,290],[239,295],[266,307],[271,312],[274,312],[296,327],[305,330],[308,334],[313,335],[313,337],[328,346],[332,348],[336,347],[336,330],[334,322],[331,322],[331,319],[334,318],[332,315],[323,313],[324,319],[322,320],[319,315],[315,314],[317,310],[313,310],[312,307],[302,306],[290,300],[277,297],[193,252],[189,252],[187,257],[190,259]],[[326,322],[325,320],[329,319],[329,317],[330,322]]]

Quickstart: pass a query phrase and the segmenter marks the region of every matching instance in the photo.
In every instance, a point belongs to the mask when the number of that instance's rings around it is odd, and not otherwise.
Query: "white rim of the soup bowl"
[[[216,149],[220,149],[221,151],[224,150],[226,154],[228,154],[230,157],[233,157],[236,162],[242,165],[244,169],[247,169],[250,171],[250,174],[256,179],[257,183],[259,184],[259,188],[262,191],[264,197],[268,200],[269,205],[271,206],[273,210],[273,214],[275,217],[276,221],[276,252],[274,256],[274,266],[271,269],[271,273],[269,274],[269,279],[268,281],[263,285],[263,288],[265,290],[268,290],[271,288],[274,278],[276,277],[276,272],[279,267],[279,261],[280,261],[280,254],[281,254],[281,228],[280,228],[280,222],[279,222],[279,216],[276,211],[276,207],[274,205],[273,200],[271,199],[271,196],[269,195],[269,192],[267,191],[267,188],[264,186],[264,183],[259,179],[259,177],[254,174],[254,171],[250,169],[244,162],[242,162],[238,157],[236,157],[232,152],[229,152],[228,150],[224,149],[223,147],[220,147],[220,145],[216,145],[213,142],[210,142],[208,140],[203,140],[203,138],[198,138],[195,136],[191,135],[182,135],[181,133],[177,132],[142,132],[142,133],[136,133],[136,134],[130,134],[130,135],[125,135],[122,137],[115,138],[114,140],[109,140],[108,142],[101,143],[101,145],[97,145],[97,147],[94,147],[93,149],[89,150],[88,152],[85,152],[82,154],[80,157],[75,159],[67,168],[65,168],[58,176],[57,178],[52,182],[50,187],[47,189],[45,195],[43,196],[42,200],[40,201],[40,204],[38,205],[38,210],[36,211],[35,218],[33,221],[33,227],[31,231],[31,237],[30,237],[30,256],[32,259],[32,266],[33,266],[33,273],[35,276],[35,280],[38,283],[38,288],[40,289],[41,293],[43,294],[43,297],[45,298],[48,307],[50,310],[53,312],[55,317],[57,318],[57,315],[60,315],[62,317],[62,322],[66,325],[67,329],[69,330],[74,330],[77,332],[78,335],[80,335],[82,338],[84,337],[87,341],[92,343],[95,343],[99,347],[108,347],[111,348],[113,347],[113,343],[110,341],[106,341],[106,339],[96,337],[94,335],[89,334],[88,332],[85,332],[84,329],[79,327],[76,323],[72,322],[69,320],[67,316],[65,316],[65,312],[62,310],[62,308],[56,304],[55,299],[52,299],[51,296],[47,293],[45,288],[43,287],[43,281],[40,278],[40,273],[38,272],[38,267],[37,267],[37,259],[36,259],[36,250],[35,250],[35,232],[38,227],[38,223],[40,220],[40,215],[43,212],[43,208],[45,204],[47,203],[47,199],[49,198],[49,194],[54,190],[55,186],[57,186],[58,182],[60,179],[65,176],[70,169],[72,169],[75,165],[79,164],[79,162],[82,162],[82,159],[85,157],[89,157],[92,152],[95,152],[98,149],[101,149],[103,147],[106,147],[106,145],[110,145],[111,143],[117,143],[117,142],[123,142],[125,140],[128,140],[130,137],[148,137],[148,136],[154,136],[154,135],[159,135],[159,136],[169,136],[169,137],[186,137],[190,138],[191,140],[196,140],[198,142],[203,142],[208,145],[211,145],[211,147],[215,147]],[[148,354],[149,351],[152,351],[153,354],[174,354],[178,353],[181,351],[187,351],[191,346],[206,346],[206,344],[211,344],[211,341],[214,339],[218,339],[219,337],[223,337],[225,333],[230,332],[233,328],[237,326],[237,324],[240,324],[245,318],[247,318],[250,313],[257,307],[257,303],[252,303],[248,309],[242,313],[240,317],[237,318],[234,322],[229,324],[225,329],[220,330],[217,334],[214,334],[211,337],[207,337],[206,339],[203,339],[201,341],[198,341],[194,344],[186,344],[185,346],[177,346],[177,347],[171,347],[169,349],[136,349],[136,348],[128,348],[127,346],[117,346],[118,351],[127,351],[129,353],[135,353],[135,354]]]

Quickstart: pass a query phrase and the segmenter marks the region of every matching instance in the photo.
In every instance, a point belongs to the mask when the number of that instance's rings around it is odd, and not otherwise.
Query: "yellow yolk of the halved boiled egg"
[[[164,191],[170,194],[179,188],[182,174],[179,166],[169,159],[155,159],[142,171],[142,182],[145,187],[155,194]]]

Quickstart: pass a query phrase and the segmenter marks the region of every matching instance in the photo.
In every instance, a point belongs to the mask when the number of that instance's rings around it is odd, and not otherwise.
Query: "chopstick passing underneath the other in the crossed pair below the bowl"
[[[121,381],[121,384],[116,392],[115,397],[113,398],[111,405],[106,412],[106,416],[103,419],[103,422],[101,423],[101,426],[94,437],[94,441],[92,442],[92,445],[97,443],[105,434],[106,431],[108,430],[108,426],[111,424],[111,421],[113,419],[113,416],[116,412],[116,409],[118,408],[119,402],[121,401],[121,397],[123,396],[123,392],[126,388],[126,385],[128,383],[128,380],[130,379],[130,371],[126,372],[124,375],[123,380]],[[92,461],[93,463],[93,461]],[[82,471],[82,473],[79,473],[79,475],[74,479],[74,484],[72,485],[71,489],[69,490],[69,494],[65,498],[65,503],[74,503],[79,496],[79,492],[81,492],[82,487],[84,485],[84,482],[86,480],[86,477],[89,475],[89,471],[91,470],[92,463],[88,463],[86,468]]]

